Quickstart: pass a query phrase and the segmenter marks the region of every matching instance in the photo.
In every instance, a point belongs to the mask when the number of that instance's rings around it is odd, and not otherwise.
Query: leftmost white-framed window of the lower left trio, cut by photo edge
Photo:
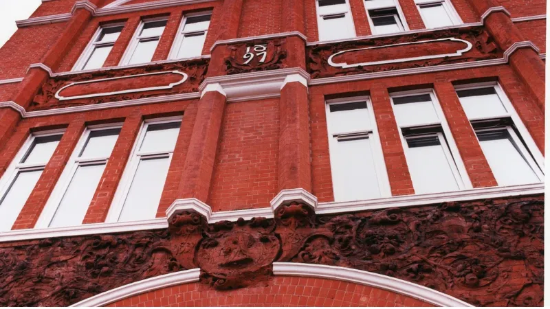
[[[10,231],[61,141],[63,130],[34,133],[0,179],[0,231]]]

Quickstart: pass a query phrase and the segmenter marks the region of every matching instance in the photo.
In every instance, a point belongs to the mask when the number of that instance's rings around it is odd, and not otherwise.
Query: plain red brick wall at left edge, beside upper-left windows
[[[25,76],[29,65],[40,62],[66,26],[52,23],[17,30],[0,48],[0,80]]]

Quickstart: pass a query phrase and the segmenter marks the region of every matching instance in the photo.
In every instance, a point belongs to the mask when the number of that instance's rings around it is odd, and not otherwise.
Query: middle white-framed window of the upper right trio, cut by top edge
[[[398,0],[365,0],[366,16],[375,35],[408,31]]]

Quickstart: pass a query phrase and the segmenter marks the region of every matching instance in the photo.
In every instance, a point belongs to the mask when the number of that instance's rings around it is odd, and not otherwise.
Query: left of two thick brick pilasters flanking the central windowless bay
[[[178,198],[197,198],[206,202],[225,110],[225,95],[218,91],[208,91],[198,105]]]

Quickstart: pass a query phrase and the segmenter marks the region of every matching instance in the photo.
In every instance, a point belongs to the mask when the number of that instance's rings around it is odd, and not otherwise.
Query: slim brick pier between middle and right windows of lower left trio
[[[94,197],[91,199],[83,224],[104,222],[115,196],[122,172],[130,157],[135,137],[142,125],[140,108],[135,108],[124,120],[111,157],[107,161]]]

